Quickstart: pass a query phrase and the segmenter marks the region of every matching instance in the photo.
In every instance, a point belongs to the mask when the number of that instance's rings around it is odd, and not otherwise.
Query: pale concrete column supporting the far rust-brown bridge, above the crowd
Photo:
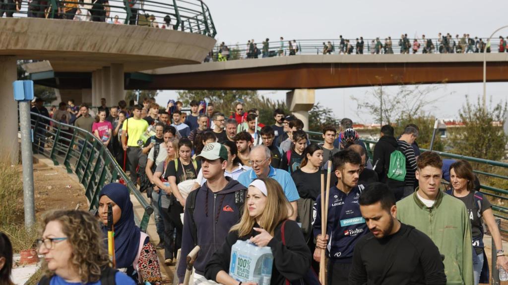
[[[302,120],[305,131],[309,130],[309,111],[314,102],[314,89],[295,89],[286,93],[286,105],[297,119]]]

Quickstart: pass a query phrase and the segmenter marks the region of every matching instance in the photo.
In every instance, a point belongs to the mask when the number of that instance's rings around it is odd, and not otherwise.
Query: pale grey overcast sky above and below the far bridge
[[[233,45],[245,44],[249,39],[261,42],[265,38],[278,39],[337,39],[388,37],[398,39],[401,33],[410,38],[425,34],[436,38],[437,33],[453,35],[469,33],[471,37],[487,38],[497,28],[508,25],[508,4],[494,0],[481,2],[427,0],[408,2],[385,1],[245,1],[205,0],[217,29],[216,40]],[[508,35],[508,28],[495,38]],[[488,72],[488,69],[487,69]],[[487,95],[493,103],[506,100],[508,83],[487,83]],[[398,87],[385,87],[396,92]],[[316,101],[330,106],[337,118],[349,117],[358,123],[371,123],[374,114],[358,112],[355,96],[370,99],[370,88],[336,88],[316,90]],[[447,84],[430,96],[439,98],[429,111],[438,118],[456,119],[465,102],[465,95],[473,100],[482,94],[482,83]],[[289,90],[288,90],[289,91]],[[260,91],[274,99],[285,100],[287,91]],[[166,104],[176,99],[175,91],[163,91],[157,102]]]

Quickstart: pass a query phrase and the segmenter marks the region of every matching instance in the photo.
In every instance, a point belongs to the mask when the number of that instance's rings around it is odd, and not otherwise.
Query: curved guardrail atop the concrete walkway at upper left
[[[13,0],[2,4],[2,17],[97,21],[217,34],[208,6],[201,0]]]

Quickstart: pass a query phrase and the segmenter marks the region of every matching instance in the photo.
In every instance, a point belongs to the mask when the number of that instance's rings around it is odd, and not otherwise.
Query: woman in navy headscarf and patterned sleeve
[[[137,283],[160,285],[162,277],[157,253],[150,237],[141,232],[134,222],[129,189],[120,183],[111,183],[99,193],[99,216],[105,225],[105,233],[110,204],[113,209],[116,268],[124,269],[121,271]]]

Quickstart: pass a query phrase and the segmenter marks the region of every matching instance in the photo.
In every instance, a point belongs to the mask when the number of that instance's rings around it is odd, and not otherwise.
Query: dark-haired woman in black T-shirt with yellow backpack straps
[[[164,189],[166,193],[171,192],[170,206],[169,206],[169,218],[174,223],[176,228],[176,240],[175,240],[175,251],[182,244],[182,231],[183,224],[180,219],[180,214],[183,213],[183,207],[185,206],[185,199],[183,198],[180,190],[178,190],[178,184],[187,180],[196,179],[200,169],[200,164],[193,160],[191,155],[192,142],[188,138],[182,138],[178,141],[178,158],[168,163],[166,167],[166,173],[164,178],[169,181],[171,190]]]

